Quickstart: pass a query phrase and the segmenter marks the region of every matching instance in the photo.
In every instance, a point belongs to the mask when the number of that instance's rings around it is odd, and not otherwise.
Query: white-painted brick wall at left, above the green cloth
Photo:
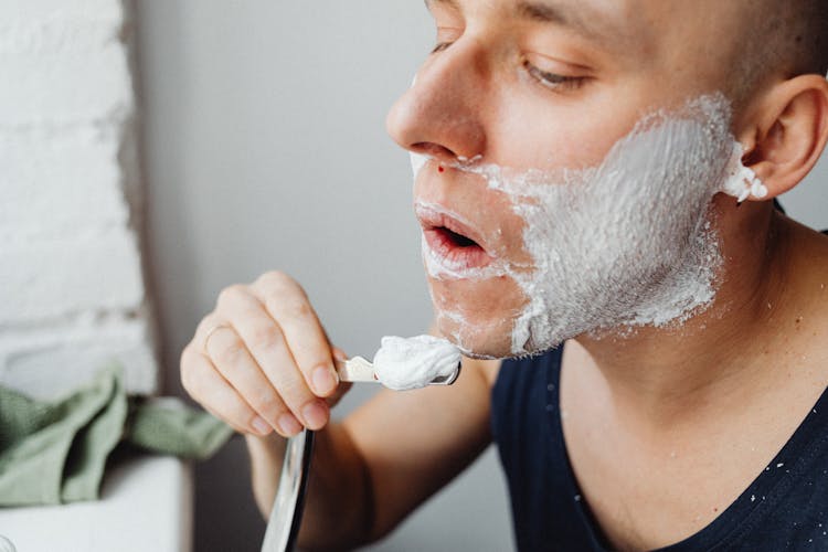
[[[156,390],[121,0],[0,1],[0,383]]]

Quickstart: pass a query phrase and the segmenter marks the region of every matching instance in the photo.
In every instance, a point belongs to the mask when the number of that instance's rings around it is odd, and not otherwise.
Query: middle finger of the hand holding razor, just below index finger
[[[294,415],[310,429],[322,428],[329,418],[328,405],[308,389],[282,330],[256,297],[236,291],[223,297],[222,315],[234,321],[248,353]],[[210,341],[211,351],[215,338]]]

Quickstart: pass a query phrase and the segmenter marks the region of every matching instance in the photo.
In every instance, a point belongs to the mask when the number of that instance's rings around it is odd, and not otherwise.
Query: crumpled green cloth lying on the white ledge
[[[106,459],[120,442],[204,459],[231,434],[176,400],[127,397],[117,368],[52,402],[0,386],[0,507],[98,498]]]

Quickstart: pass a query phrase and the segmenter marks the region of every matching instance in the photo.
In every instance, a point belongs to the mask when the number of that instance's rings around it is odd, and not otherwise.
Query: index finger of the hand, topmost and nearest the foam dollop
[[[330,344],[322,325],[301,287],[288,277],[262,278],[253,291],[276,320],[296,365],[318,396],[330,396],[339,376],[333,368]]]

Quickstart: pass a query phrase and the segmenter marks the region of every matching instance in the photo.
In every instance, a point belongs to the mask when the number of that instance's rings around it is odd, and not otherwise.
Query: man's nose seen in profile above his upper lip
[[[485,81],[482,53],[473,41],[458,40],[433,55],[393,105],[385,120],[389,135],[438,162],[485,155]]]

